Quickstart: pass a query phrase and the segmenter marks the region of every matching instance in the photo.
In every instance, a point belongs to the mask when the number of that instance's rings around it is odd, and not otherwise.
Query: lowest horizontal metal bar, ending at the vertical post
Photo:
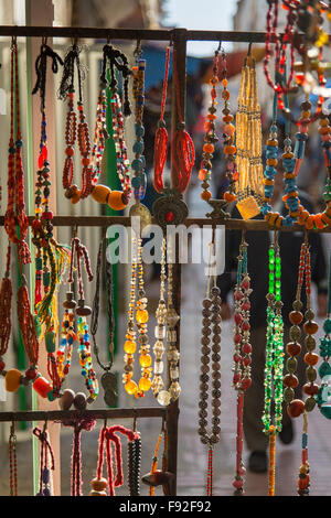
[[[0,412],[0,421],[62,421],[92,417],[95,419],[166,418],[167,409],[161,407],[111,408],[99,410],[31,410],[22,412]]]

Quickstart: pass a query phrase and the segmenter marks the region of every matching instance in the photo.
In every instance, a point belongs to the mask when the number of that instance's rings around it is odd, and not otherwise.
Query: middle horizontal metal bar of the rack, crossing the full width
[[[29,216],[29,224],[31,225],[34,216]],[[131,218],[129,216],[54,216],[52,219],[54,227],[109,227],[110,225],[122,225],[129,227]],[[157,224],[156,219],[152,218],[152,223]],[[4,216],[0,216],[0,227],[4,225]],[[207,217],[188,217],[184,222],[186,227],[196,225],[199,227],[211,227],[212,225],[224,225],[225,228],[231,230],[255,230],[255,231],[267,231],[267,230],[280,230],[280,231],[305,231],[305,228],[296,224],[292,227],[280,227],[270,226],[264,219],[215,219],[214,222]],[[331,233],[331,226],[323,228],[322,230],[308,230],[318,233]]]

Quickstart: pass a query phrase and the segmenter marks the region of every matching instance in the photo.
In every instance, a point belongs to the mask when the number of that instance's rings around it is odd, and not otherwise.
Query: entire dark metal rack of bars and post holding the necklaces
[[[111,41],[168,41],[171,42],[177,52],[179,99],[183,118],[185,118],[185,94],[186,94],[186,42],[188,41],[215,41],[215,42],[242,42],[242,43],[264,43],[264,32],[224,32],[224,31],[190,31],[186,29],[172,30],[138,30],[138,29],[97,29],[97,28],[55,28],[55,26],[9,26],[0,25],[0,36],[25,36],[25,37],[70,37],[70,39],[97,39]],[[300,35],[297,35],[300,40]],[[173,82],[174,83],[174,82]],[[172,127],[177,127],[179,121],[178,107],[175,102],[174,84],[172,86]],[[174,170],[171,171],[172,180]],[[31,224],[33,217],[29,217]],[[0,216],[0,226],[3,226],[4,217]],[[53,225],[56,226],[84,226],[84,227],[108,227],[113,224],[130,225],[130,218],[125,216],[54,216]],[[267,231],[273,229],[264,220],[242,220],[220,218],[186,218],[185,225],[215,226],[224,225],[226,229],[246,229]],[[303,231],[302,227],[295,225],[292,228],[281,227],[280,231]],[[311,230],[316,231],[316,230]],[[319,230],[320,231],[320,230]],[[321,230],[331,231],[331,227]],[[181,265],[177,261],[173,265],[173,292],[174,309],[181,313]],[[177,324],[177,347],[180,350],[180,321]],[[169,373],[168,373],[169,376]],[[85,410],[78,412],[70,411],[21,411],[0,412],[1,421],[58,421],[68,417],[93,416],[96,419],[125,419],[125,418],[163,418],[168,430],[168,471],[174,474],[170,483],[170,495],[177,494],[177,458],[178,458],[178,423],[179,423],[179,401],[172,402],[168,408],[130,408],[130,409],[108,409],[108,410]]]

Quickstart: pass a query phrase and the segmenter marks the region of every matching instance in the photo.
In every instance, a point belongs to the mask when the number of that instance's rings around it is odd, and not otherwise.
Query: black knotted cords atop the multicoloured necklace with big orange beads
[[[125,117],[128,117],[131,115],[129,101],[129,77],[131,75],[131,71],[128,58],[122,52],[108,43],[104,46],[103,54],[100,82],[108,85],[110,90],[117,90],[116,69],[121,74],[124,87],[124,115]],[[109,64],[110,82],[107,79],[107,63]]]

